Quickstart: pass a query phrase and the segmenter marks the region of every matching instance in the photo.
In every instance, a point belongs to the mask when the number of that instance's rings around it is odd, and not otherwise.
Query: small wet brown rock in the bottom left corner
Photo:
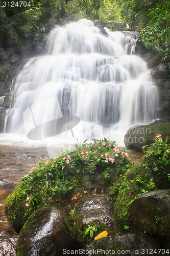
[[[0,255],[15,256],[18,236],[0,228]]]

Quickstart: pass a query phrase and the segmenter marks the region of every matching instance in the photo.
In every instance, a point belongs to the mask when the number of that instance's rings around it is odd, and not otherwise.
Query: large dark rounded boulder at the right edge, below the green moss
[[[141,230],[170,238],[170,189],[153,191],[136,198],[128,210],[129,223]]]

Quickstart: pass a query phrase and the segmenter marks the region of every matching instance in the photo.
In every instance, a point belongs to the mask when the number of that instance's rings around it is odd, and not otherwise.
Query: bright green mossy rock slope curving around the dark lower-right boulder
[[[114,216],[119,223],[119,228],[125,232],[124,226],[129,226],[127,211],[135,198],[156,190],[153,181],[152,169],[144,168],[143,163],[137,163],[128,170],[125,176],[120,177],[114,184],[111,194],[113,194]],[[120,193],[117,192],[120,190]]]

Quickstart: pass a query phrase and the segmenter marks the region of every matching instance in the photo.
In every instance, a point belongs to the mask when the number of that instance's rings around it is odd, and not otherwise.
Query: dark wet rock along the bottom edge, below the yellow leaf
[[[85,246],[85,250],[91,250],[92,254],[96,254],[96,250],[103,250],[102,254],[98,255],[143,255],[145,249],[152,250],[158,248],[155,240],[149,237],[140,237],[136,234],[123,234],[121,236],[102,238],[93,241]],[[105,253],[104,253],[105,251]],[[99,251],[100,252],[100,251]],[[145,255],[145,254],[144,254]]]

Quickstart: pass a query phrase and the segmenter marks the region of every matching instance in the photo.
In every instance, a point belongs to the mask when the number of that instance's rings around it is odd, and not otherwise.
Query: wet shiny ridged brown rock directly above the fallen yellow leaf
[[[112,203],[107,196],[91,196],[83,198],[76,206],[75,213],[82,216],[82,222],[101,222],[107,225],[108,229],[114,228]]]

